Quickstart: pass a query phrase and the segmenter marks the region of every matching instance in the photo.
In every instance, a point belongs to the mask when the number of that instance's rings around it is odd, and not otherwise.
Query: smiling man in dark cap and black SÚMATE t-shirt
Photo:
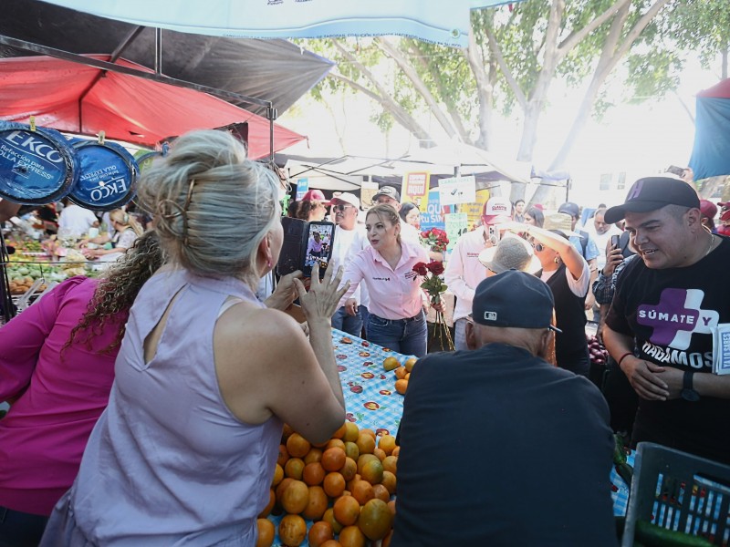
[[[652,441],[730,463],[730,376],[712,373],[713,333],[730,323],[717,279],[730,241],[704,229],[689,184],[636,181],[606,222],[626,219],[641,260],[620,275],[603,340],[639,395],[631,442]]]

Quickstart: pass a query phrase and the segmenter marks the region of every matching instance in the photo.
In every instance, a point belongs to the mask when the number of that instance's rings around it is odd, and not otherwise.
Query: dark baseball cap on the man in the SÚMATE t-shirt
[[[650,212],[667,205],[700,208],[700,198],[684,181],[670,177],[645,177],[633,183],[623,205],[611,207],[603,221],[612,224],[626,217],[627,212]]]

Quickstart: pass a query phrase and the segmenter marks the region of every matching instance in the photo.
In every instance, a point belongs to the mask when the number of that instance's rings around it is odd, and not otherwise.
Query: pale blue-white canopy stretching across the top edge
[[[504,0],[46,0],[109,19],[233,38],[412,36],[466,47],[469,13]]]

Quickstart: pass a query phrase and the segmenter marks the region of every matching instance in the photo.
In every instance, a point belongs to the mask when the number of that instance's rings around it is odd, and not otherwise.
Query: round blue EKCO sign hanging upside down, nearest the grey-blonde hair
[[[74,143],[80,174],[68,194],[71,201],[93,211],[111,211],[128,203],[137,188],[139,168],[120,145],[94,140]]]

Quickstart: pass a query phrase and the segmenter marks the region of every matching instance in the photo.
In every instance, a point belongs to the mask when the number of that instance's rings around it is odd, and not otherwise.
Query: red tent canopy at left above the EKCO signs
[[[116,64],[151,72],[124,59]],[[94,83],[99,72],[55,57],[0,59],[0,119],[27,123],[35,116],[41,127],[84,135],[104,131],[108,139],[145,146],[192,129],[248,122],[249,156],[256,159],[269,153],[267,119],[206,93],[141,77],[106,72]],[[275,151],[302,139],[275,124]]]

